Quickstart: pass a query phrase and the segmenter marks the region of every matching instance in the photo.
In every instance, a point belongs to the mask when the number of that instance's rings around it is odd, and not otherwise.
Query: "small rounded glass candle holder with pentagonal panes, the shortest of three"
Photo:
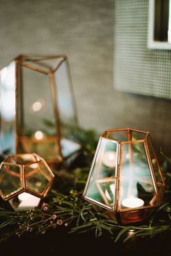
[[[0,193],[16,212],[38,206],[54,174],[37,154],[11,154],[0,165]]]

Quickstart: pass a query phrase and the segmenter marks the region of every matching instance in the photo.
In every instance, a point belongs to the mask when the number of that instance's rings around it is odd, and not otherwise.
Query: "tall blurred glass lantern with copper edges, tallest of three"
[[[0,150],[61,162],[80,149],[67,57],[20,55],[0,71]]]

